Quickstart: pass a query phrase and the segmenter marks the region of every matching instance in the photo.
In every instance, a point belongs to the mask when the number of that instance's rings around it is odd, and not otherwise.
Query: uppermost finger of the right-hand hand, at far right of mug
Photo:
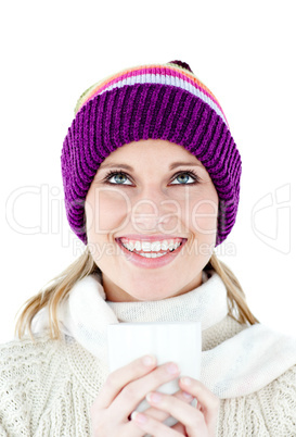
[[[219,412],[220,400],[200,380],[181,377],[179,386],[197,399],[198,407],[204,413],[205,421],[210,430],[216,427],[216,421]]]

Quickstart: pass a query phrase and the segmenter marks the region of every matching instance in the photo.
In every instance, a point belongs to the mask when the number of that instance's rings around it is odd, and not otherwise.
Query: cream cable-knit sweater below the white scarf
[[[203,350],[244,326],[224,317],[203,332]],[[46,335],[0,349],[0,436],[91,436],[90,408],[107,369],[72,337]],[[295,437],[296,365],[255,394],[222,399],[217,436]]]

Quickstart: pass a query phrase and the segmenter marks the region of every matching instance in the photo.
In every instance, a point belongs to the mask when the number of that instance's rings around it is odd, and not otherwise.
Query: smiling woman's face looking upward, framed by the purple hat
[[[147,139],[111,153],[85,210],[107,300],[160,300],[200,286],[218,202],[206,168],[181,146]]]

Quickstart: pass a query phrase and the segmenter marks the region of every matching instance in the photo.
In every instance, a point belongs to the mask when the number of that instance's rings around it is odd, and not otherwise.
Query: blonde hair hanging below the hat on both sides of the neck
[[[205,271],[214,270],[222,279],[228,292],[229,315],[240,324],[254,325],[259,323],[253,315],[245,300],[245,294],[234,274],[216,254],[213,254]],[[31,339],[31,323],[35,315],[48,307],[49,310],[49,330],[52,339],[61,338],[57,321],[57,309],[60,303],[66,298],[72,287],[83,277],[100,270],[87,247],[85,252],[74,261],[61,274],[49,282],[36,296],[25,302],[15,327],[15,334],[23,338],[28,332]]]

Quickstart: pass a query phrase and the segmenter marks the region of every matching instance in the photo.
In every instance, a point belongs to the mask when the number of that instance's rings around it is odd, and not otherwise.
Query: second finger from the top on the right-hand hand
[[[146,399],[153,407],[166,411],[172,415],[172,417],[177,419],[177,421],[181,422],[191,437],[208,435],[204,414],[192,405],[170,395],[164,395],[157,391],[150,392]]]

